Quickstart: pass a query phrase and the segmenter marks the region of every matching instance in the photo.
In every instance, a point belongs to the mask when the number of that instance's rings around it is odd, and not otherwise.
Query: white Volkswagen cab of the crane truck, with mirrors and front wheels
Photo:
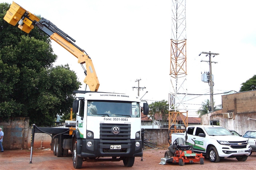
[[[147,114],[145,104],[143,109]],[[140,109],[138,96],[86,92],[77,97],[73,104],[76,113],[76,130],[72,133],[74,167],[80,168],[83,160],[123,160],[124,166],[132,166],[134,158],[142,156]]]

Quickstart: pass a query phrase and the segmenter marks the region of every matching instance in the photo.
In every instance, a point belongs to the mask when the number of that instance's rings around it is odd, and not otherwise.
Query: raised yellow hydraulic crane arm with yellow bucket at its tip
[[[37,26],[44,33],[49,35],[49,37],[53,41],[57,42],[63,48],[73,54],[78,59],[78,63],[80,63],[82,67],[83,64],[85,64],[86,69],[84,69],[84,73],[86,76],[84,78],[84,83],[89,86],[90,91],[98,91],[100,83],[96,75],[94,66],[92,64],[92,59],[89,57],[89,55],[86,54],[86,52],[82,48],[79,48],[74,43],[76,41],[68,36],[68,34],[61,31],[49,20],[45,18],[37,18],[35,15],[30,13],[29,11],[26,11],[15,2],[12,2],[10,9],[6,12],[6,15],[4,16],[4,20],[13,26],[15,26],[19,22],[18,27],[26,33],[29,33],[34,28],[34,26]]]

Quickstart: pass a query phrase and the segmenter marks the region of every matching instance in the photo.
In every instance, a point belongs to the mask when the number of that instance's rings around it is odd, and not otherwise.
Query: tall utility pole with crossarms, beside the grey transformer
[[[206,54],[206,56],[209,56],[209,61],[201,60],[201,62],[209,62],[209,86],[210,86],[210,108],[209,111],[214,111],[214,105],[213,105],[213,75],[212,75],[212,63],[218,63],[218,62],[212,62],[212,57],[215,57],[215,55],[219,55],[218,53],[211,53],[209,52],[201,52],[201,54]],[[199,54],[199,56],[201,55]],[[213,56],[212,56],[213,55]]]

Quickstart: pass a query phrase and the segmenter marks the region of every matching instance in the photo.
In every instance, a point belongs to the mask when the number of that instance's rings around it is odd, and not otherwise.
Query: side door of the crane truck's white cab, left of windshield
[[[76,129],[80,133],[80,137],[84,138],[84,99],[79,100],[79,109],[78,109],[78,115],[76,115]]]

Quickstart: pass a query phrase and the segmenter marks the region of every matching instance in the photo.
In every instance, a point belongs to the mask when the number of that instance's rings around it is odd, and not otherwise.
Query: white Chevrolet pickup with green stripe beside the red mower
[[[186,131],[187,142],[193,144],[194,152],[203,153],[211,162],[219,162],[224,157],[245,161],[250,155],[248,140],[221,126],[195,125],[188,126]],[[172,141],[178,137],[186,140],[186,133],[172,133]]]

